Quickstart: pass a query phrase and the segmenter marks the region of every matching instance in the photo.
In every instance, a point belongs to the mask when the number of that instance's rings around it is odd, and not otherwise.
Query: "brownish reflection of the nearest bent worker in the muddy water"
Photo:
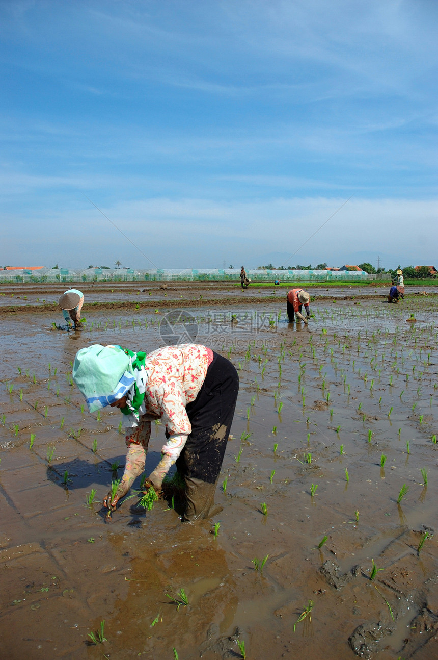
[[[107,619],[108,629],[117,631],[113,644],[119,653],[134,648],[148,657],[167,657],[169,647],[190,648],[203,640],[213,648],[221,634],[232,632],[238,596],[225,550],[210,533],[211,522],[181,525],[158,506],[142,520],[142,527],[109,537],[127,557],[123,577],[101,585],[120,594]],[[118,589],[120,581],[123,589]],[[189,605],[177,611],[170,597],[178,598],[181,588]]]

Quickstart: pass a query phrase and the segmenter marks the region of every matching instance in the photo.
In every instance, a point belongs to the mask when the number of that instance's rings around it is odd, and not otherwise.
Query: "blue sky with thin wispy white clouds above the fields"
[[[0,3],[0,265],[438,267],[437,19],[435,0]]]

